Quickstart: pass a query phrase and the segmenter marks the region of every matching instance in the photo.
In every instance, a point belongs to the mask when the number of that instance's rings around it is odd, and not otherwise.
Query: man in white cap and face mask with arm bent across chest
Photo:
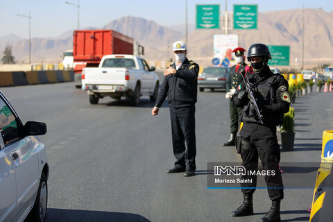
[[[173,43],[173,62],[164,70],[164,80],[151,114],[158,114],[167,98],[170,107],[173,154],[175,167],[167,173],[185,172],[184,176],[194,176],[196,171],[195,103],[198,94],[199,66],[186,58],[184,42]]]

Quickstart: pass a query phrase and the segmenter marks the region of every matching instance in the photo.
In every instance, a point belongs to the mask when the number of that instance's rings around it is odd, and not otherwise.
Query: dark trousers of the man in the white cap
[[[175,167],[196,170],[196,107],[170,107]]]

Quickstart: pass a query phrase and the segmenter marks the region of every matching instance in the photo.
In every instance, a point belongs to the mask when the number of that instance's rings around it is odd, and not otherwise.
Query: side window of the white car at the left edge
[[[0,99],[0,131],[5,146],[19,138],[15,116],[2,99]]]

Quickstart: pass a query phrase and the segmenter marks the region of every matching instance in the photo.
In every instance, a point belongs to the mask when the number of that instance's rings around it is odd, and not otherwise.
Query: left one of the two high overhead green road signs
[[[220,5],[196,5],[196,28],[220,28]]]

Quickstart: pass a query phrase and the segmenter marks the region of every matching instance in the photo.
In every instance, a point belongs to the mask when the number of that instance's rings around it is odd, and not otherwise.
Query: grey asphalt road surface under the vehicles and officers
[[[240,162],[234,147],[222,145],[230,137],[224,92],[198,94],[197,171],[185,178],[166,173],[175,161],[166,103],[153,117],[148,97],[138,107],[113,99],[90,105],[73,83],[0,91],[24,123],[47,124],[48,133],[40,136],[50,166],[46,221],[259,221],[271,206],[266,189],[258,189],[255,215],[234,218],[230,212],[241,204],[241,191],[207,189],[207,162]],[[295,149],[282,152],[282,162],[320,162],[323,130],[333,128],[332,96],[296,100]],[[316,178],[308,179],[314,184]],[[285,189],[284,196],[282,221],[308,221],[313,189]]]

